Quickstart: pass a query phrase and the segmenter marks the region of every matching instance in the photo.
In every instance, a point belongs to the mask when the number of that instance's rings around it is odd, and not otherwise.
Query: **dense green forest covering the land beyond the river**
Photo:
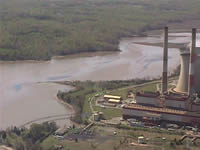
[[[0,0],[0,60],[118,51],[121,37],[199,13],[199,0]]]

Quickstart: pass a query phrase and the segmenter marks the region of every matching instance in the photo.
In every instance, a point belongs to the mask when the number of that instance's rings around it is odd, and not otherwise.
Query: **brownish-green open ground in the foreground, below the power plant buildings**
[[[99,127],[94,126],[95,128],[95,137],[92,139],[79,139],[78,142],[74,140],[55,140],[54,137],[48,137],[43,143],[41,143],[43,148],[53,147],[55,144],[63,145],[64,150],[185,150],[186,142],[182,144],[176,144],[181,138],[179,134],[169,134],[165,132],[151,132],[151,129],[146,131],[136,129],[136,130],[124,130],[116,129],[113,127]],[[113,132],[116,132],[117,135],[113,135]],[[143,146],[132,146],[132,142],[137,143],[137,138],[139,136],[144,136],[147,140],[147,144]],[[165,138],[166,140],[162,140]],[[176,139],[176,140],[175,140]],[[53,142],[52,142],[53,141]],[[56,141],[56,142],[55,142]],[[199,142],[196,145],[190,143],[190,150],[198,150]]]

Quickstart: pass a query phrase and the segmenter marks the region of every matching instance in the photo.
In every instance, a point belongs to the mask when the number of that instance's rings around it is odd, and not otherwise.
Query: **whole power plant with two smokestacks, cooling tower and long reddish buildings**
[[[168,89],[168,27],[165,27],[161,91],[136,92],[136,103],[123,106],[124,119],[200,126],[200,47],[196,47],[196,29],[192,29],[191,46],[181,50],[180,57],[178,83]]]

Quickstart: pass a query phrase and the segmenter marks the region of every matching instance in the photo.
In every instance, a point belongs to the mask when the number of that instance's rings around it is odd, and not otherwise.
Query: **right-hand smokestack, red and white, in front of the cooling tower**
[[[188,95],[191,95],[195,92],[195,90],[194,90],[195,48],[196,48],[196,29],[193,28],[192,29],[192,46],[190,48]]]

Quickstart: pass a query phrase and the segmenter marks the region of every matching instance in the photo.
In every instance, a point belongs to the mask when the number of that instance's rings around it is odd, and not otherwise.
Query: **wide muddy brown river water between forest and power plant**
[[[188,36],[173,34],[171,42],[188,42]],[[48,62],[0,63],[0,128],[69,113],[56,100],[59,89],[70,87],[55,83],[60,80],[117,80],[160,76],[162,48],[134,42],[161,42],[159,37],[122,39],[121,52],[97,53],[53,58]],[[179,64],[179,51],[169,49],[169,70]],[[66,121],[65,121],[66,123]]]

